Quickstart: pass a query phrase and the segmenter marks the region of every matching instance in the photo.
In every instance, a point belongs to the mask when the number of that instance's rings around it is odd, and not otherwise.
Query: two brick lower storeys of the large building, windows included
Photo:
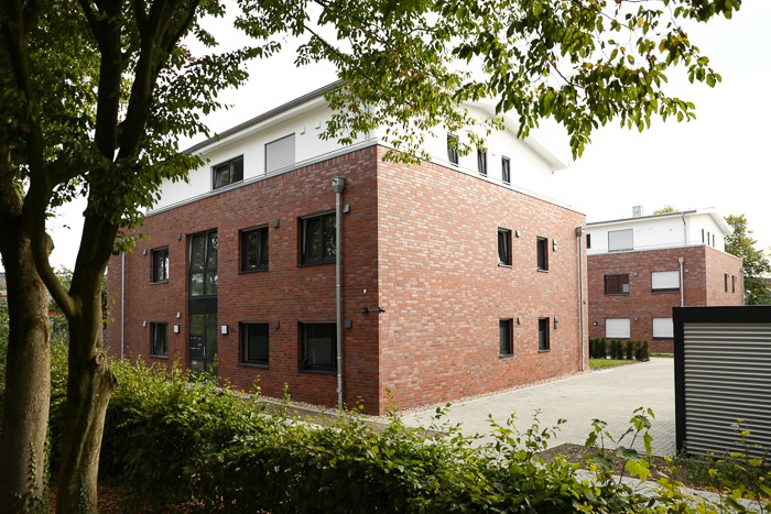
[[[270,117],[252,124],[260,120]],[[383,162],[377,140],[305,161],[295,154],[271,171],[276,140],[268,135],[264,147],[249,143],[264,151],[253,161],[268,169],[247,178],[250,153],[238,145],[253,138],[224,150],[227,135],[213,147],[240,163],[217,164],[207,150],[215,165],[199,174],[213,189],[162,200],[140,230],[145,238],[110,263],[115,356],[191,369],[211,369],[216,356],[218,376],[237,387],[259,376],[267,396],[281,397],[287,384],[294,400],[334,406],[339,250],[347,405],[362,401],[380,414],[389,394],[408,408],[582,369],[586,261],[576,227],[585,217],[507,183],[514,177],[503,162],[518,162],[524,145],[510,157],[488,150],[501,166],[485,175],[452,155]],[[232,184],[217,186],[220,171]],[[339,244],[334,177],[345,179]]]

